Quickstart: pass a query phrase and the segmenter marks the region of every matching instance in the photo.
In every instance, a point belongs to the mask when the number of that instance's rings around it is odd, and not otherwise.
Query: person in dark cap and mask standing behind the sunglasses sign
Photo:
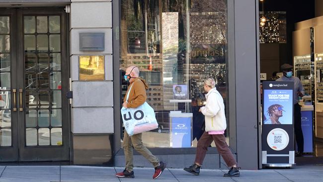
[[[298,103],[299,97],[302,97],[304,94],[304,88],[299,78],[293,76],[293,66],[289,64],[283,64],[281,66],[283,72],[283,77],[277,79],[276,81],[282,82],[294,82],[294,133],[297,143],[298,152],[296,157],[303,156],[304,151],[304,137],[302,131],[301,123],[301,106]]]

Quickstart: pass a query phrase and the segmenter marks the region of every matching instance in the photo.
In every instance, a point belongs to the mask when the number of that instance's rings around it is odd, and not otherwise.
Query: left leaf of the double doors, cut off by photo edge
[[[0,161],[18,161],[16,54],[12,54],[12,11],[0,10]]]

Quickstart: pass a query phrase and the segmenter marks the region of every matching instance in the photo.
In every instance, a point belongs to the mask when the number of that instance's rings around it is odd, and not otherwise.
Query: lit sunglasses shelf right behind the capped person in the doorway
[[[305,95],[311,95],[311,56],[294,57],[294,76],[300,78]]]

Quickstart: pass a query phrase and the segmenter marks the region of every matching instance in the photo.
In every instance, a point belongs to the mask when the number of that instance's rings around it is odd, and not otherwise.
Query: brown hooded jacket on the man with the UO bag
[[[135,80],[128,87],[127,93],[126,93],[125,97],[123,98],[124,102],[127,99],[127,94],[128,94],[128,91],[131,86],[132,86],[132,88],[129,93],[127,107],[128,108],[137,108],[138,106],[145,103],[145,101],[147,100],[146,90],[148,89],[148,86],[147,86],[145,80],[143,80],[141,78],[135,78]]]

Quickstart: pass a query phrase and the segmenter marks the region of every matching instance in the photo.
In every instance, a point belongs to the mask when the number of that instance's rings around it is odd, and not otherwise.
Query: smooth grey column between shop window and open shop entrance
[[[260,68],[258,0],[235,0],[235,63],[238,164],[258,169]]]

